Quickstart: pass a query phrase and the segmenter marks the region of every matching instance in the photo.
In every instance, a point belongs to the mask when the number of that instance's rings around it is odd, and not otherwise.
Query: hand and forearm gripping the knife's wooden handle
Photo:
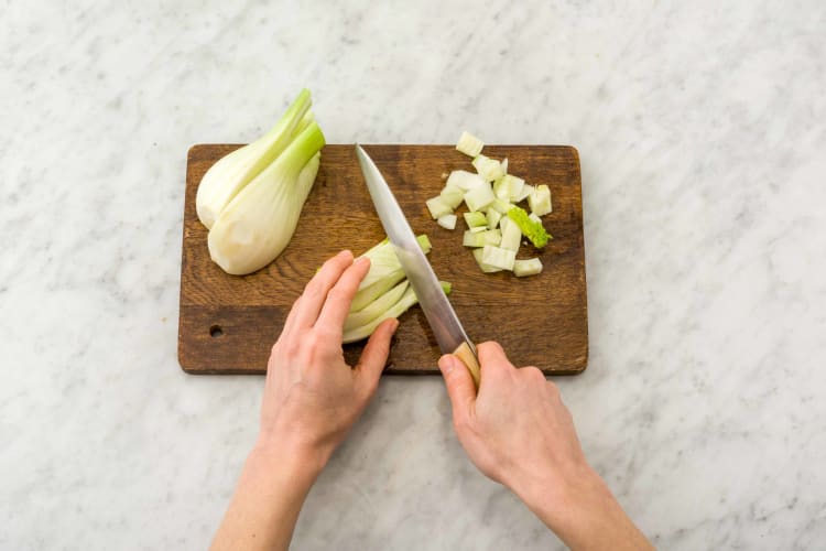
[[[517,368],[498,343],[477,347],[477,395],[465,365],[442,356],[456,434],[486,476],[517,494],[572,549],[653,549],[588,465],[556,385]]]

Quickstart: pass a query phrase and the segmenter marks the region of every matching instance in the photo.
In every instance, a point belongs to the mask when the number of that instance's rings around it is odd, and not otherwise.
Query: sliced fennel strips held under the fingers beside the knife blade
[[[427,255],[431,251],[431,240],[426,235],[421,235],[416,239]],[[355,343],[369,337],[381,322],[389,317],[399,317],[419,302],[416,293],[405,279],[393,245],[388,239],[362,256],[370,259],[370,271],[361,281],[345,320],[344,343]],[[450,283],[439,283],[445,293],[450,292]]]

